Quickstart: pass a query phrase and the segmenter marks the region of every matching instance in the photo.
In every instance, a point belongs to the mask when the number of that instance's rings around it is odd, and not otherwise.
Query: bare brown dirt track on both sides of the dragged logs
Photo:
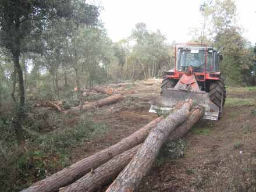
[[[98,109],[94,120],[105,122],[110,129],[100,139],[74,150],[73,162],[117,143],[157,118],[148,113],[147,105],[134,107],[131,103],[152,101],[159,96],[159,87],[158,83],[126,87],[135,93],[125,95],[121,103]],[[221,120],[198,122],[184,138],[185,157],[165,159],[162,166],[152,168],[139,191],[256,191],[255,95],[256,90],[227,89]]]

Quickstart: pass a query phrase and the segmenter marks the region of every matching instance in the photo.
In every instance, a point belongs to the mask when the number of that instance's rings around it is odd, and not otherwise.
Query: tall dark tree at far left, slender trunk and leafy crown
[[[37,1],[37,0],[3,0],[0,2],[0,44],[9,50],[13,57],[13,63],[19,79],[19,108],[13,121],[18,144],[24,145],[22,119],[24,118],[24,80],[23,70],[20,66],[20,53],[26,52],[27,42],[44,30],[44,26],[50,19],[58,17],[73,17],[77,12],[76,4],[84,5],[85,13],[81,18],[84,23],[94,23],[98,17],[98,8],[88,5],[84,1]]]

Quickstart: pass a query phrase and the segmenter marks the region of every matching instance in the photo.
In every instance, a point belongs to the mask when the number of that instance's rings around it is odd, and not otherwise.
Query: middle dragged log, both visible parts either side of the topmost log
[[[196,106],[190,112],[189,118],[181,126],[177,127],[170,135],[170,140],[176,140],[177,138],[183,137],[187,131],[193,127],[193,125],[204,115],[204,108]],[[161,119],[163,119],[161,117]],[[156,126],[156,125],[155,125]],[[60,192],[79,192],[87,191],[94,192],[99,190],[102,186],[110,183],[116,176],[122,171],[123,168],[130,162],[131,158],[134,157],[138,148],[137,145],[129,151],[125,151],[115,158],[109,160],[104,165],[99,166],[93,170],[92,173],[87,173],[81,179],[70,184],[69,186],[60,189]]]

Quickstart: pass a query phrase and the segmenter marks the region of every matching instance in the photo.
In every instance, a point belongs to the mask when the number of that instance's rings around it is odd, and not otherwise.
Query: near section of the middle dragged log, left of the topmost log
[[[91,170],[91,172],[87,173],[76,182],[69,186],[62,187],[59,189],[59,192],[92,192],[101,189],[102,186],[111,183],[112,180],[118,176],[122,169],[131,161],[140,147],[141,144],[128,151],[122,152],[122,154],[112,158],[97,169]]]

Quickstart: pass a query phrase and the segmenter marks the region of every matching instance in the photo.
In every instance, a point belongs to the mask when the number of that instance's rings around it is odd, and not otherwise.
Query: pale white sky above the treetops
[[[159,29],[168,42],[191,40],[189,31],[200,26],[199,7],[203,0],[102,0],[101,19],[109,37],[119,41],[129,37],[136,23],[147,24],[147,29]],[[239,24],[243,37],[256,43],[256,0],[236,0]]]

